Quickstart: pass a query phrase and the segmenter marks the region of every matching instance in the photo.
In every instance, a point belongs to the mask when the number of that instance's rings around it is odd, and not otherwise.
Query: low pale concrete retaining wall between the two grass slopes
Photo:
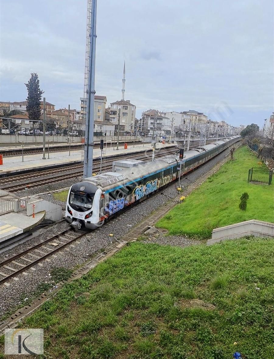
[[[212,237],[206,244],[214,244],[224,239],[241,238],[243,236],[274,237],[274,223],[263,222],[256,219],[214,228]]]

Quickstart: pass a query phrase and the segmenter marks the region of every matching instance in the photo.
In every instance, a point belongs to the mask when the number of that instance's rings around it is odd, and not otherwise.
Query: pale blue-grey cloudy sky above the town
[[[37,72],[48,102],[80,108],[86,0],[0,0],[0,100]],[[272,0],[98,0],[96,93],[141,112],[195,109],[263,125],[273,108]]]

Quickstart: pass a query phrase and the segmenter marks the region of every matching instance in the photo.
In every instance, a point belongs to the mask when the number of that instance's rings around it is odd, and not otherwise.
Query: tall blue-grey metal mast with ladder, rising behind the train
[[[91,6],[90,6],[91,3]],[[88,0],[87,13],[87,34],[89,36],[89,46],[86,47],[86,64],[88,58],[87,79],[87,116],[85,126],[85,144],[84,144],[84,178],[92,176],[93,161],[93,125],[94,125],[94,94],[95,94],[95,52],[96,52],[96,10],[97,0]],[[88,55],[88,56],[87,56]]]

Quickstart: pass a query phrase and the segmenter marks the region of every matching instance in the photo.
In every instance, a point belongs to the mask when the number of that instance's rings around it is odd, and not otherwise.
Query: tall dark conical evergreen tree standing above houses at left
[[[33,135],[35,136],[34,123],[39,121],[41,117],[40,101],[44,92],[40,90],[39,79],[36,73],[31,74],[31,78],[25,85],[28,90],[27,112],[29,120],[32,121]]]

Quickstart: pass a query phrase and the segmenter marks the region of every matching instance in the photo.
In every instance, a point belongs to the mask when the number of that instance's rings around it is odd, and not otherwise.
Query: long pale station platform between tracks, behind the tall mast
[[[168,148],[174,146],[174,144],[162,144],[157,143],[157,149],[160,148]],[[144,150],[151,150],[150,143],[143,143],[138,145],[131,144],[127,149],[119,148],[119,150],[113,150],[113,147],[104,148],[103,150],[103,158],[107,158],[108,156],[113,156],[117,154],[133,154]],[[93,158],[98,159],[101,157],[101,150],[96,148],[93,150]],[[80,163],[83,160],[82,150],[76,151],[62,151],[62,152],[53,152],[46,154],[46,159],[42,159],[41,154],[36,155],[24,155],[24,161],[21,156],[13,156],[9,158],[3,158],[3,165],[0,165],[0,176],[5,176],[5,174],[11,173],[20,173],[23,171],[35,170],[35,169],[43,169],[46,167],[55,167],[55,166],[64,166],[66,164]]]

